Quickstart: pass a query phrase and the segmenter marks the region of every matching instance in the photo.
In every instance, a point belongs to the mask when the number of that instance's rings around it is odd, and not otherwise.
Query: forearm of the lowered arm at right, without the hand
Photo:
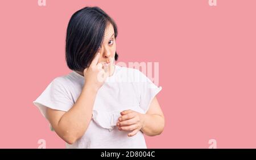
[[[160,135],[164,129],[164,117],[158,114],[144,114],[141,131],[147,136]]]

